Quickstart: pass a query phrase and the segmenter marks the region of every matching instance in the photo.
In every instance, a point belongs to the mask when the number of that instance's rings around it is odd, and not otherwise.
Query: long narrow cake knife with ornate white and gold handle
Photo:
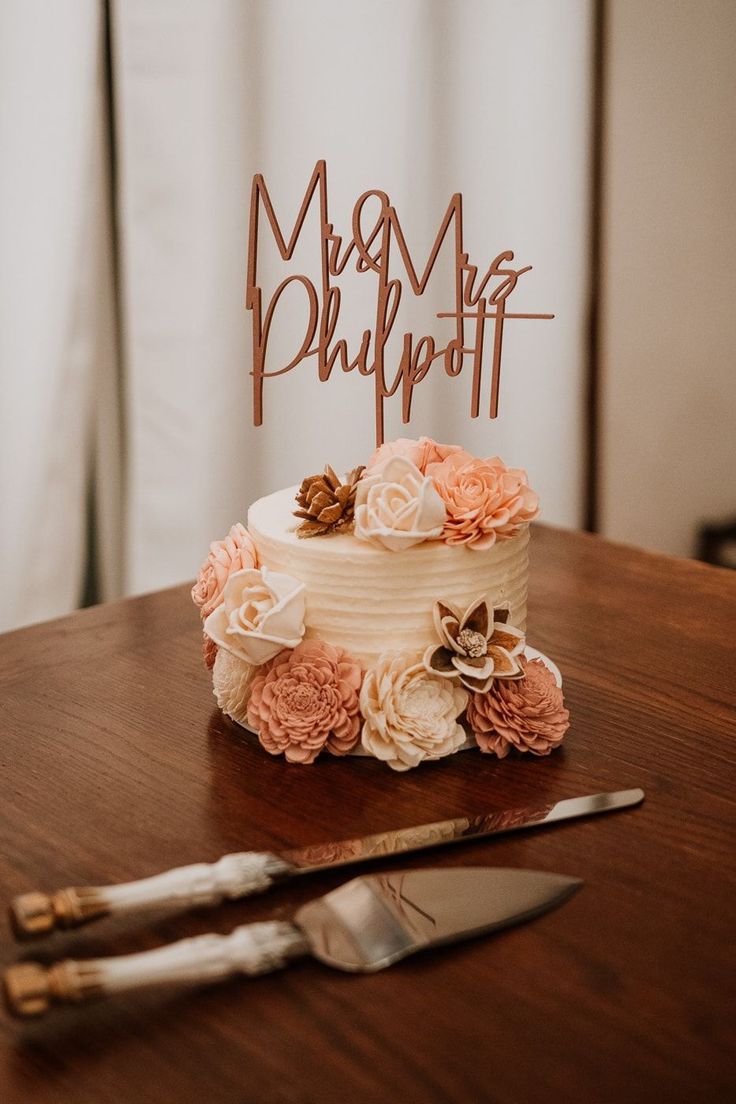
[[[55,893],[23,893],[10,906],[19,938],[46,935],[55,928],[77,927],[111,913],[147,909],[189,909],[216,905],[226,900],[267,890],[297,874],[329,870],[349,863],[384,859],[407,851],[484,839],[503,832],[610,813],[643,800],[642,789],[589,794],[554,804],[506,809],[472,817],[439,820],[382,831],[359,839],[340,840],[276,852],[241,851],[217,862],[178,867],[152,878],[120,885],[72,887]]]

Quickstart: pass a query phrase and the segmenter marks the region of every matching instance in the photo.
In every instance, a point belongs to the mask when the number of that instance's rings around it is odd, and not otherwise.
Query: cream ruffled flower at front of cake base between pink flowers
[[[384,651],[361,689],[363,747],[394,771],[451,755],[466,740],[458,718],[467,702],[467,692],[430,675],[420,656]]]

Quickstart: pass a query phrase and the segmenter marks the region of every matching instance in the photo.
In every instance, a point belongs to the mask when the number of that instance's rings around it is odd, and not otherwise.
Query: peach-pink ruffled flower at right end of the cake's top
[[[508,468],[498,456],[481,460],[455,453],[430,464],[427,475],[445,502],[442,540],[448,544],[489,549],[497,540],[515,537],[540,512],[526,473]]]

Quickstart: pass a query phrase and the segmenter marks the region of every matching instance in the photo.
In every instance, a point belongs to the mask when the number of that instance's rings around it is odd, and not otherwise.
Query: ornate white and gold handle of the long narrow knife
[[[10,906],[19,938],[78,927],[110,913],[145,909],[190,909],[262,893],[291,871],[276,854],[241,851],[217,862],[178,867],[163,874],[121,885],[70,887],[55,893],[23,893]]]

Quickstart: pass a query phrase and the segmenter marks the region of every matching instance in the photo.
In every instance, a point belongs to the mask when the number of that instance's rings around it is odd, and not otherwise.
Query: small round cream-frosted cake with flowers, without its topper
[[[290,763],[548,754],[568,713],[526,645],[537,513],[524,471],[428,437],[258,499],[192,590],[220,708]]]

